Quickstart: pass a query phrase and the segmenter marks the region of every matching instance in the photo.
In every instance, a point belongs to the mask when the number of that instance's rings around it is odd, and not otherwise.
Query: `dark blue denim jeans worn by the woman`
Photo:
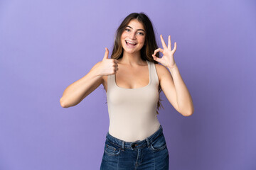
[[[145,140],[135,142],[119,140],[107,132],[100,169],[169,169],[169,152],[162,126]]]

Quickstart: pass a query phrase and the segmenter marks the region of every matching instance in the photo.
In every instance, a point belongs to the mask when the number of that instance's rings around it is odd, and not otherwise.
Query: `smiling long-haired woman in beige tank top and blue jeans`
[[[174,61],[176,42],[171,50],[171,36],[168,45],[160,38],[163,48],[157,47],[146,14],[129,14],[117,29],[111,58],[105,48],[103,60],[60,98],[61,106],[68,108],[104,86],[110,127],[100,169],[169,169],[169,152],[157,119],[159,93],[164,91],[184,116],[193,114],[193,103]]]

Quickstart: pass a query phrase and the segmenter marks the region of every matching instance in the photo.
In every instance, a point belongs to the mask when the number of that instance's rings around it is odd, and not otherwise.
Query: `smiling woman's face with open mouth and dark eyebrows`
[[[142,23],[132,19],[121,35],[121,43],[125,52],[139,52],[145,42],[146,32]]]

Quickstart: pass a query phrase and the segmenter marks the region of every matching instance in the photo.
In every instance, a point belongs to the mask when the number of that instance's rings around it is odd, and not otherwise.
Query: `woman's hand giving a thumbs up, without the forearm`
[[[115,59],[109,59],[109,50],[107,47],[105,47],[105,55],[103,57],[103,60],[100,62],[100,75],[107,76],[111,74],[116,74],[118,70],[118,64],[117,60]]]

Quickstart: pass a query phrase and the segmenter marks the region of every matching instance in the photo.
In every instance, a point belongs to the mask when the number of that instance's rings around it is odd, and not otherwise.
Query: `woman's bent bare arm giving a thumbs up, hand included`
[[[108,50],[107,48],[105,49],[106,52],[103,60],[97,62],[92,69],[90,69],[90,72],[65,89],[63,96],[60,98],[60,106],[63,108],[76,106],[102,84],[102,76],[115,74],[117,72],[117,60],[108,59]]]

